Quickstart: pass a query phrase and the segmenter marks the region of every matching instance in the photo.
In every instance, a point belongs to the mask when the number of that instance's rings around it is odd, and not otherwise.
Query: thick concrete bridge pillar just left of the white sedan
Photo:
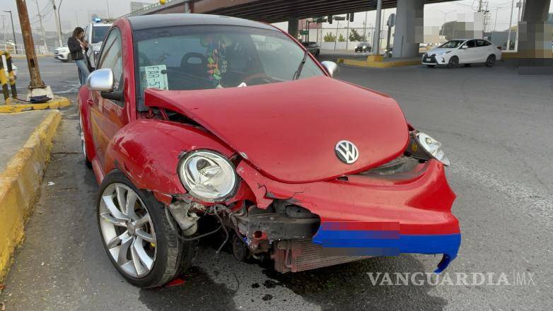
[[[392,57],[417,57],[424,41],[424,0],[397,0]]]

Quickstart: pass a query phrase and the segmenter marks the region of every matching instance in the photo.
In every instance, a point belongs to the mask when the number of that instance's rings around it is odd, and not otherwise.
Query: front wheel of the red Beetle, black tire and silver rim
[[[141,288],[162,286],[192,263],[194,243],[179,240],[163,204],[134,187],[122,172],[104,178],[96,204],[105,251],[129,283]]]

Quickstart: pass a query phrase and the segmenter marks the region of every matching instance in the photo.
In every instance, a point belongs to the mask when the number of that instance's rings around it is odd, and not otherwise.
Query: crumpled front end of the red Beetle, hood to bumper
[[[248,90],[232,89],[221,90],[218,96],[224,98],[225,92],[250,97]],[[199,240],[221,230],[224,240],[217,251],[230,242],[238,260],[271,258],[275,270],[296,272],[376,256],[442,254],[436,269],[441,272],[457,257],[461,241],[458,220],[451,213],[455,194],[445,174],[449,160],[438,141],[404,121],[395,101],[370,95],[380,105],[359,105],[358,110],[366,112],[358,115],[369,116],[363,117],[368,118],[366,123],[356,116],[356,110],[344,107],[339,111],[340,115],[349,113],[346,117],[359,124],[359,131],[342,133],[336,127],[321,138],[312,134],[320,128],[303,129],[304,136],[320,140],[305,145],[305,152],[313,155],[308,158],[302,153],[279,153],[286,150],[285,143],[297,149],[296,141],[281,137],[286,135],[252,134],[253,129],[272,128],[272,118],[260,117],[257,123],[239,119],[247,115],[240,108],[253,114],[257,106],[227,109],[218,103],[214,111],[226,111],[226,122],[221,123],[209,105],[185,107],[178,103],[180,93],[147,90],[146,105],[152,107],[154,117],[129,124],[117,134],[110,163],[136,187],[153,192],[165,204],[165,216],[175,224],[181,240]],[[211,102],[211,98],[202,100]],[[276,107],[265,105],[264,109]],[[293,113],[301,113],[302,107],[294,108]],[[335,113],[323,112],[312,117],[315,125],[317,117],[324,120]],[[277,113],[294,120],[276,108],[263,111],[265,115]],[[300,129],[302,119],[297,122]],[[289,122],[287,126],[296,125]],[[252,127],[247,129],[250,135],[235,139],[240,132],[233,131],[247,127]],[[371,131],[380,133],[355,136]],[[333,134],[353,137],[352,141],[360,141],[359,148],[328,137]],[[330,143],[335,150],[328,150]],[[373,148],[378,143],[381,148]],[[133,157],[136,154],[140,158]],[[204,217],[213,217],[219,227],[204,230],[199,225]]]

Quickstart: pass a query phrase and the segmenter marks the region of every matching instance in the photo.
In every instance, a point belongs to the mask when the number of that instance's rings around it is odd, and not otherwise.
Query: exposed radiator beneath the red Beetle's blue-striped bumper
[[[327,256],[322,247],[310,239],[280,241],[274,252],[274,269],[279,272],[298,272],[334,264],[345,264],[370,256]]]

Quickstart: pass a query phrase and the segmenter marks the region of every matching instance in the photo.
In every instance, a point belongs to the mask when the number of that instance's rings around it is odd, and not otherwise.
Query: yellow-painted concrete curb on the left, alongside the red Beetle
[[[0,282],[23,241],[23,226],[33,211],[60,119],[58,110],[50,112],[0,172]]]

